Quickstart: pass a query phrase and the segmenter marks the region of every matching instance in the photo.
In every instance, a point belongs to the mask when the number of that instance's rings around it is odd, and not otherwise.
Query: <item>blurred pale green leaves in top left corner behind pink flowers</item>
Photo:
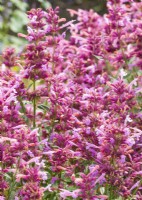
[[[37,0],[36,6],[46,9],[51,5],[48,1]],[[23,46],[25,40],[18,38],[17,33],[25,33],[28,23],[26,12],[36,6],[30,1],[0,0],[0,52],[8,46],[18,50]]]

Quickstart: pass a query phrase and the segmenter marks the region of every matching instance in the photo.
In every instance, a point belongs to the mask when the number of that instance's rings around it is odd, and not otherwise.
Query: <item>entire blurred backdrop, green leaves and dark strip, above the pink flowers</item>
[[[67,8],[94,9],[103,14],[106,12],[106,0],[0,0],[0,53],[8,47],[22,49],[25,41],[17,37],[17,33],[26,32],[28,22],[26,12],[31,8],[50,6],[60,7],[60,16],[70,18]]]

